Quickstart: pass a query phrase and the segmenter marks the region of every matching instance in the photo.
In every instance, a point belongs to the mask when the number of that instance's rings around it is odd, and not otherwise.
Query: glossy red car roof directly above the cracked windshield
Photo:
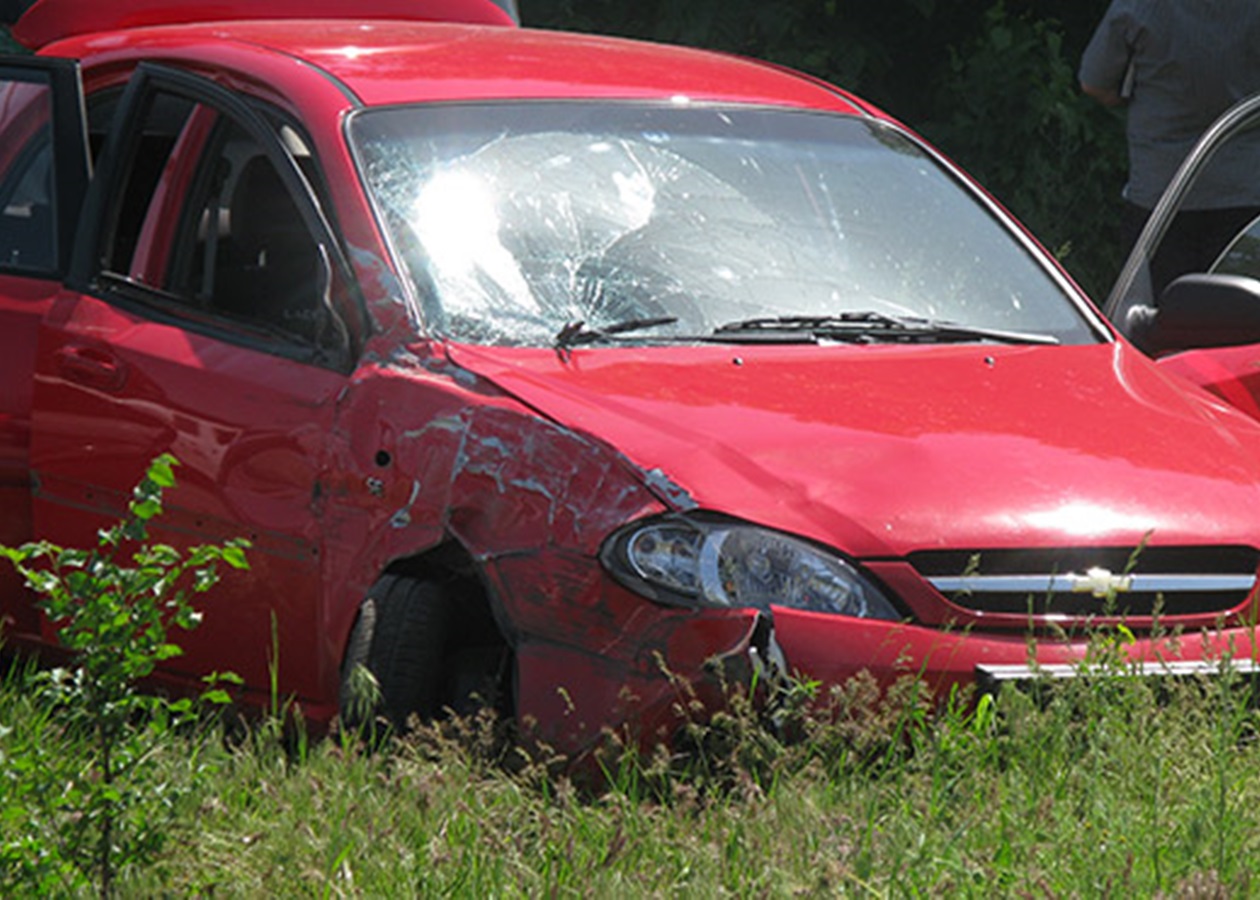
[[[135,28],[50,44],[87,67],[127,58],[205,66],[215,49],[323,69],[363,105],[501,98],[764,103],[871,112],[824,82],[740,57],[561,32],[398,20],[260,20]],[[239,62],[237,62],[239,64]]]

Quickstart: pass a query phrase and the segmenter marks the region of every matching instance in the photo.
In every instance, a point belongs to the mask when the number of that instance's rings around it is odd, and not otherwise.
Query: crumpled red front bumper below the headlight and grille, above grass
[[[1100,628],[1062,639],[785,609],[704,610],[668,621],[650,629],[654,637],[629,667],[572,647],[523,643],[519,708],[533,734],[577,755],[609,731],[643,746],[668,742],[702,710],[721,708],[731,686],[765,686],[784,673],[816,681],[824,693],[863,672],[883,687],[911,677],[945,697],[954,686],[994,691],[1011,682],[1108,671],[1181,677],[1225,667],[1244,674],[1260,669],[1260,635],[1249,626],[1158,638]],[[1114,661],[1111,669],[1089,662],[1101,645]]]

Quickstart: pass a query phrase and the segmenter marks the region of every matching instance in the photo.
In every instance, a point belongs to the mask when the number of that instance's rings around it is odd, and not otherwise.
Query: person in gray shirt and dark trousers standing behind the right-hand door
[[[1212,121],[1260,91],[1260,0],[1113,0],[1085,48],[1081,89],[1126,106],[1131,247],[1177,166]],[[1152,261],[1155,296],[1205,271],[1260,212],[1260,166],[1225,161],[1196,183]]]

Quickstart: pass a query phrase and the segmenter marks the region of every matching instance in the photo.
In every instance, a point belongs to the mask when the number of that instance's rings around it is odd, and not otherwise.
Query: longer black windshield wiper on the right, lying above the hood
[[[1057,344],[1051,334],[1008,332],[917,316],[883,313],[838,313],[834,315],[781,315],[741,319],[719,325],[713,338],[747,338],[755,342],[848,340],[853,343],[939,343],[992,340],[1003,344]]]

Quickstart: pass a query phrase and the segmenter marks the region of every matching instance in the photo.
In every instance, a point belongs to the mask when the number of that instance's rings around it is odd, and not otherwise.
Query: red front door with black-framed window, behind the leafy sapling
[[[255,686],[275,673],[297,698],[335,678],[312,662],[319,485],[352,359],[306,146],[278,113],[142,66],[84,207],[69,289],[40,329],[33,417],[35,526],[58,543],[91,543],[149,461],[175,455],[155,537],[239,536],[253,550],[251,571],[208,595],[202,626],[174,635],[185,648],[174,668]]]

